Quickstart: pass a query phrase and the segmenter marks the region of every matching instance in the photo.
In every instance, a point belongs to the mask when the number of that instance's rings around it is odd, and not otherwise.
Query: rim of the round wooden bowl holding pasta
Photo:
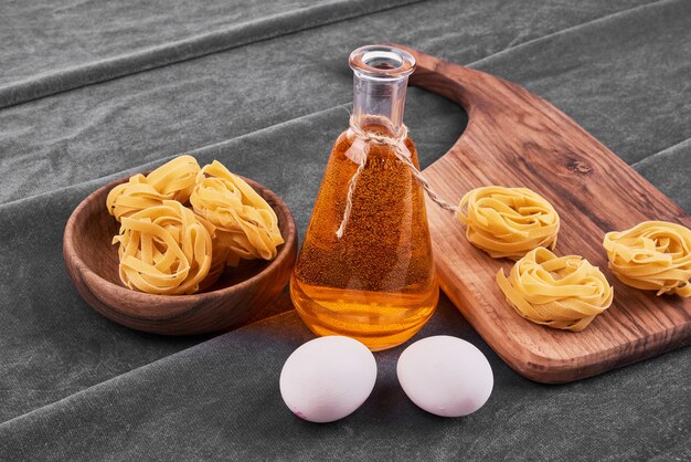
[[[148,171],[143,171],[141,174],[147,175],[147,172]],[[252,277],[248,277],[238,283],[228,285],[226,287],[220,287],[213,291],[200,292],[195,294],[180,294],[180,295],[148,294],[146,292],[135,291],[132,288],[126,287],[120,284],[115,284],[108,281],[107,279],[103,277],[102,275],[93,271],[91,266],[84,262],[79,253],[76,251],[75,245],[74,245],[74,240],[75,240],[74,223],[77,217],[81,213],[83,213],[84,209],[89,203],[92,203],[92,201],[95,200],[96,197],[98,197],[100,193],[103,193],[106,190],[113,189],[117,185],[128,181],[129,178],[134,175],[137,175],[137,174],[132,174],[130,176],[110,181],[102,186],[100,188],[96,189],[95,191],[91,192],[87,197],[82,199],[79,204],[72,211],[72,213],[70,214],[70,218],[67,219],[67,222],[65,223],[65,229],[64,229],[64,234],[63,234],[63,258],[65,260],[67,259],[72,260],[73,265],[79,267],[79,271],[83,273],[82,274],[83,280],[86,280],[86,279],[97,280],[102,283],[105,283],[105,285],[108,286],[109,290],[114,291],[115,294],[118,294],[118,295],[121,294],[124,297],[127,297],[130,301],[135,301],[139,303],[160,304],[161,302],[171,302],[174,300],[177,303],[181,305],[189,304],[190,306],[187,309],[181,308],[181,309],[176,311],[177,314],[181,314],[188,309],[195,309],[195,306],[204,301],[212,301],[212,300],[216,300],[220,297],[226,297],[234,293],[240,293],[246,290],[248,286],[252,286],[255,283],[259,282],[261,280],[267,277],[269,273],[272,273],[276,267],[279,267],[280,265],[285,263],[286,260],[290,259],[290,253],[291,253],[290,249],[296,244],[296,241],[297,241],[295,219],[293,217],[290,209],[284,202],[284,200],[269,188],[265,187],[264,185],[257,181],[254,181],[249,178],[238,175],[238,177],[245,180],[252,187],[252,189],[254,189],[257,193],[259,193],[259,196],[262,196],[267,202],[269,201],[274,202],[274,206],[269,203],[269,207],[274,209],[274,212],[276,212],[276,208],[279,208],[283,212],[281,214],[285,216],[284,220],[285,220],[285,227],[287,231],[286,232],[287,235],[283,235],[285,242],[279,245],[276,258],[272,261],[268,261],[268,264],[264,269],[262,269],[258,273],[254,274]],[[278,206],[278,207],[275,207],[275,206]],[[107,213],[105,209],[104,209],[104,212]],[[115,220],[115,218],[113,218],[113,220],[115,223],[118,223]],[[280,221],[279,221],[279,228],[280,228]],[[166,314],[170,314],[170,313],[166,313]],[[148,316],[143,316],[143,317],[148,317]]]

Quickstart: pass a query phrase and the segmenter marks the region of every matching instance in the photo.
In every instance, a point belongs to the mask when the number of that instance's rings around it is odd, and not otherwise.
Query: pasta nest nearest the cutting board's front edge
[[[614,290],[605,275],[578,255],[557,258],[538,248],[517,261],[497,284],[518,314],[536,324],[583,330],[612,305]]]

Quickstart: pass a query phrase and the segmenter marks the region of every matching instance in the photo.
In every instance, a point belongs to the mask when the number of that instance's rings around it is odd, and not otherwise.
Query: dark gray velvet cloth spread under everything
[[[61,253],[72,210],[179,154],[268,186],[302,233],[347,124],[348,54],[374,42],[525,86],[691,212],[688,1],[3,2],[0,460],[691,458],[689,348],[538,385],[443,297],[415,338],[445,333],[482,349],[496,378],[486,407],[463,419],[418,410],[397,386],[396,348],[376,354],[378,385],[359,411],[317,426],[278,393],[283,361],[311,338],[293,312],[169,338],[79,298]],[[423,166],[467,120],[417,88],[405,119]],[[279,305],[289,308],[285,295]]]

